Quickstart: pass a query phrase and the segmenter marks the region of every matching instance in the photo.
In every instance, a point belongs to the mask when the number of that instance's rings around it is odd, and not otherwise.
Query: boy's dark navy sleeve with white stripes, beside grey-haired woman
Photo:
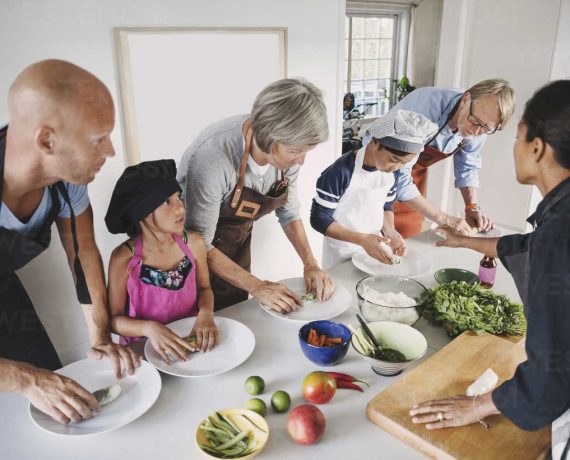
[[[344,154],[317,179],[315,198],[311,206],[311,226],[323,235],[334,222],[333,214],[350,184],[355,159],[356,152]]]

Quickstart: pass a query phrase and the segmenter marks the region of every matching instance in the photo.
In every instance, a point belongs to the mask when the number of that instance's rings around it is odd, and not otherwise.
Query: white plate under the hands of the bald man
[[[141,361],[134,375],[120,380],[117,380],[111,362],[106,359],[83,359],[56,372],[75,380],[91,392],[113,383],[121,385],[121,395],[116,401],[102,407],[95,417],[79,423],[62,425],[30,404],[29,414],[32,421],[41,429],[58,435],[105,433],[124,426],[140,417],[154,404],[162,386],[160,374],[145,361]]]

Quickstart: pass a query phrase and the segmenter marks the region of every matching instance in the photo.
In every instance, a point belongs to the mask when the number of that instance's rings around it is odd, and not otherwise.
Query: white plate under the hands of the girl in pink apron
[[[179,336],[192,331],[196,318],[183,318],[167,326]],[[178,377],[209,377],[227,372],[243,363],[255,348],[253,332],[239,321],[216,316],[218,345],[207,353],[192,353],[187,361],[166,364],[147,340],[144,346],[146,359],[159,371]]]

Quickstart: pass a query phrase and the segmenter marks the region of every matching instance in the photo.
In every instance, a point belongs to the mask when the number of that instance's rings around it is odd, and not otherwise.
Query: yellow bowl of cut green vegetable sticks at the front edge
[[[214,411],[196,430],[196,444],[208,458],[247,460],[263,450],[268,438],[265,419],[247,409]]]

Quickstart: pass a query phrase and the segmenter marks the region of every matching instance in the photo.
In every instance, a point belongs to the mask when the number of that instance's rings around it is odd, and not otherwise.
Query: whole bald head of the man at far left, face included
[[[54,180],[86,184],[114,155],[113,99],[95,75],[50,59],[24,69],[8,94],[8,140]]]

